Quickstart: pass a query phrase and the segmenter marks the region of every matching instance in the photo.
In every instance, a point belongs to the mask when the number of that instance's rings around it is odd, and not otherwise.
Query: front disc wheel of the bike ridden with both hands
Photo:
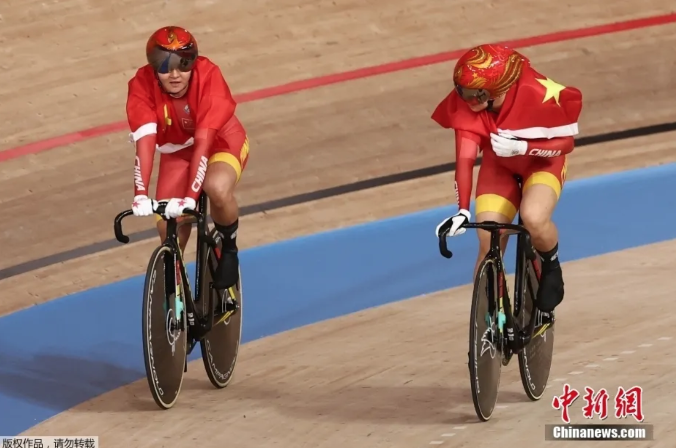
[[[172,249],[158,247],[150,258],[143,289],[145,374],[153,399],[162,409],[176,403],[186,362],[183,281],[177,268]]]

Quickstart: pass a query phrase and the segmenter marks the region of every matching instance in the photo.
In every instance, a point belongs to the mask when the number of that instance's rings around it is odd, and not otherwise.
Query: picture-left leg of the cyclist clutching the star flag
[[[479,177],[477,178],[477,201],[475,213],[477,222],[496,221],[497,223],[511,223],[514,221],[516,211],[521,200],[521,192],[512,177],[511,171],[502,167],[500,163],[486,154],[481,161]],[[479,237],[479,254],[474,268],[474,275],[483,257],[488,253],[491,246],[491,233],[477,229]],[[504,254],[507,239],[501,241],[501,249]]]

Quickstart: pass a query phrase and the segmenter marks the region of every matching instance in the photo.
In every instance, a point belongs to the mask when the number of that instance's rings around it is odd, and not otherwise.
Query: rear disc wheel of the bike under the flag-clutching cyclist
[[[537,401],[545,392],[550,368],[552,367],[554,323],[550,324],[550,327],[544,332],[538,334],[543,328],[543,316],[541,311],[535,307],[539,281],[531,260],[526,261],[526,274],[523,283],[525,285],[524,303],[519,319],[521,328],[528,328],[533,310],[537,315],[535,316],[533,339],[518,353],[518,368],[521,372],[521,383],[526,395],[529,399]]]

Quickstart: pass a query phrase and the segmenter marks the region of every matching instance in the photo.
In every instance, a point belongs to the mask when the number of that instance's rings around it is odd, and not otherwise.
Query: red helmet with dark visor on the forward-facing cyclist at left
[[[190,72],[197,60],[197,40],[188,30],[165,26],[153,32],[145,46],[145,56],[155,72],[169,73],[174,69]]]

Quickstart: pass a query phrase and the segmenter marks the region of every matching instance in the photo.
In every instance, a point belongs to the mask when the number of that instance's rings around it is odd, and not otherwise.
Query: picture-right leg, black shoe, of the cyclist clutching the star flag
[[[521,219],[531,233],[533,246],[541,256],[542,273],[537,306],[550,312],[564,296],[563,273],[558,261],[558,231],[552,213],[566,177],[566,157],[544,160],[531,171],[523,186]]]

